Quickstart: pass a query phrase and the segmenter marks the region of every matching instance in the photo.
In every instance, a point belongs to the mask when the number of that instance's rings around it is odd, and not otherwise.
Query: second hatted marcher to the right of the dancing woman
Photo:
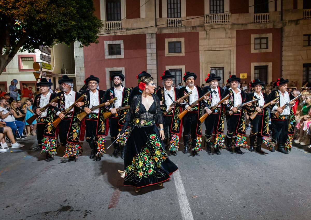
[[[184,99],[181,106],[183,109],[188,111],[188,113],[183,117],[182,122],[184,129],[183,153],[188,154],[188,146],[191,138],[191,150],[193,156],[198,155],[202,142],[201,122],[199,121],[199,117],[201,117],[202,113],[202,102],[197,103],[197,105],[193,108],[190,107],[193,102],[197,101],[202,96],[202,89],[199,86],[194,85],[194,81],[196,79],[197,75],[195,73],[185,73],[183,81],[186,83],[186,86],[179,89],[179,97],[183,97],[187,93],[192,92],[192,94]]]

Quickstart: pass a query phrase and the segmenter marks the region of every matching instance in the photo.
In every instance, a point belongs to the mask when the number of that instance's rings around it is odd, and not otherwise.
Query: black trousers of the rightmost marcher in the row
[[[271,120],[272,141],[278,142],[278,145],[284,146],[288,137],[288,119]]]

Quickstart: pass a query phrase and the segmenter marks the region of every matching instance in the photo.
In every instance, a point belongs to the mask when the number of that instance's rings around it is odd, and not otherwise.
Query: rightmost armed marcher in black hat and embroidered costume
[[[280,151],[284,154],[288,154],[288,151],[291,150],[292,135],[294,134],[295,129],[295,115],[292,110],[292,106],[295,105],[295,101],[291,101],[289,106],[283,110],[281,107],[284,106],[287,102],[294,98],[289,92],[287,92],[287,83],[288,79],[279,78],[277,79],[275,86],[276,90],[273,90],[267,101],[271,101],[276,97],[280,99],[276,101],[274,106],[271,106],[271,130],[272,130],[272,141],[277,143],[277,151]],[[276,110],[280,113],[278,117],[273,114],[273,111]],[[274,152],[274,149],[271,150]]]

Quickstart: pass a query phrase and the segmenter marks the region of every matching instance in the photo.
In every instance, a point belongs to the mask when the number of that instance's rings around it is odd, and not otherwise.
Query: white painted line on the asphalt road
[[[181,216],[183,220],[193,220],[192,212],[187,199],[185,188],[183,187],[183,181],[181,180],[179,170],[174,172],[174,182],[176,186]]]

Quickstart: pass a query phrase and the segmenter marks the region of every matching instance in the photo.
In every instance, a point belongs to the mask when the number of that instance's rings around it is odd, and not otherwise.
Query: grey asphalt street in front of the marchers
[[[205,128],[202,128],[204,131]],[[248,132],[249,133],[249,132]],[[183,140],[181,140],[183,141]],[[62,160],[64,148],[52,161],[40,151],[23,148],[0,155],[0,219],[310,219],[311,154],[293,147],[289,155],[269,152],[244,155],[201,151],[169,158],[179,170],[163,188],[139,193],[123,186],[117,170],[123,160],[89,159],[86,141],[76,161]],[[107,137],[107,145],[111,143]]]

